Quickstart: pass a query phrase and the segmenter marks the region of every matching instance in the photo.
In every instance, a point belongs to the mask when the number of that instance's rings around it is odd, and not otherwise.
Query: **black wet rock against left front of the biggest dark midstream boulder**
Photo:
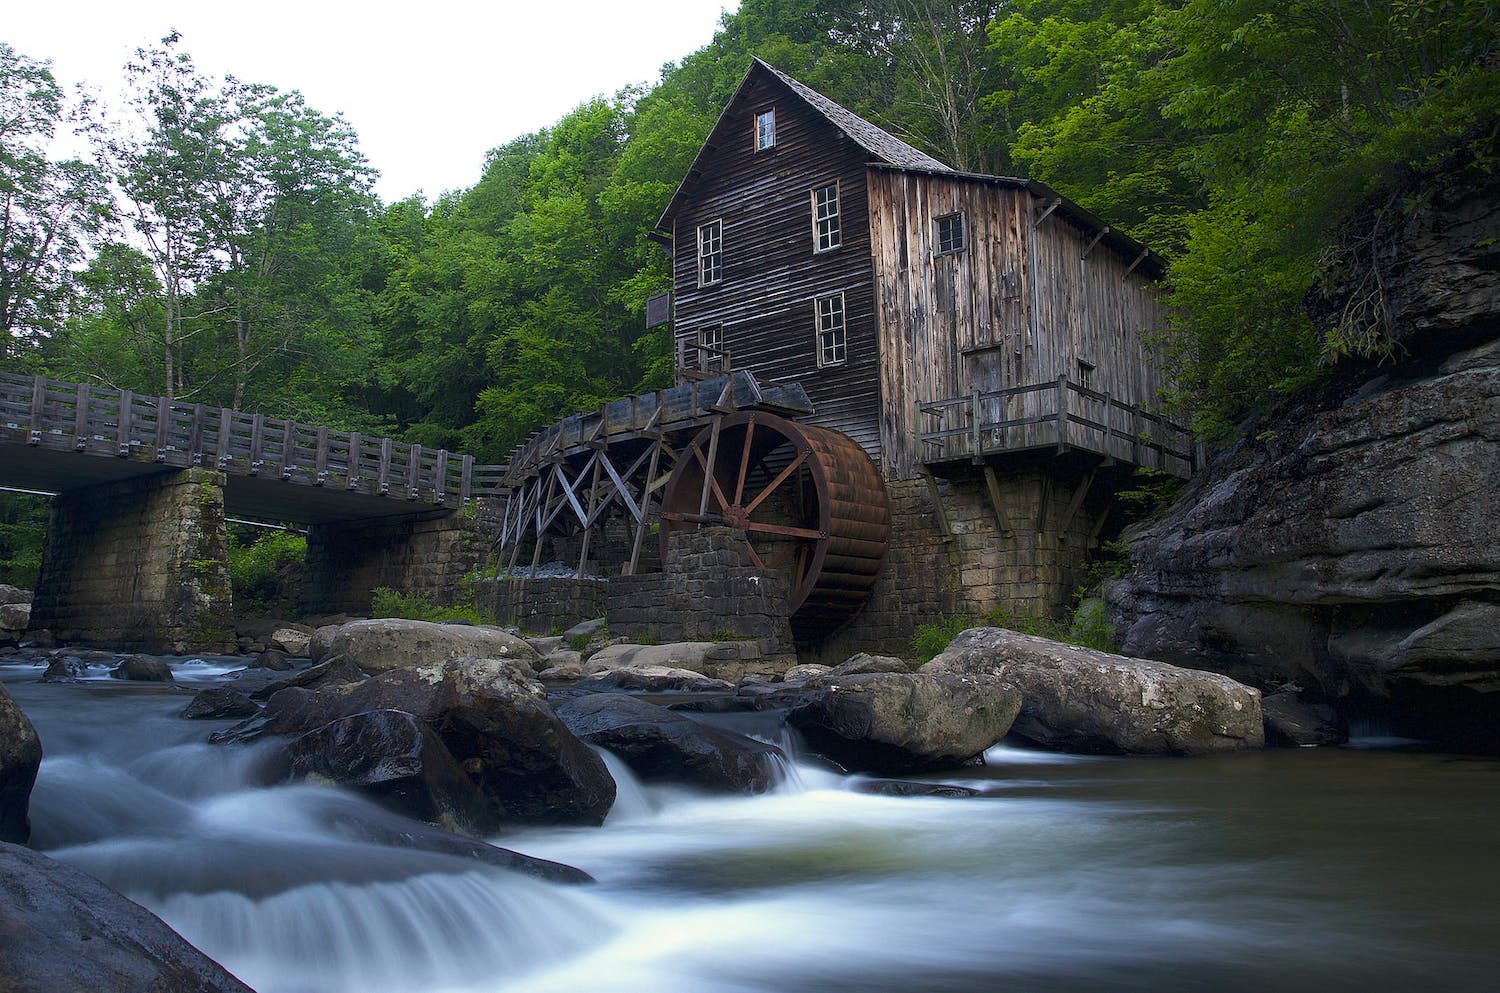
[[[285,746],[291,778],[324,778],[422,820],[460,831],[500,826],[498,812],[430,728],[404,711],[354,714]]]

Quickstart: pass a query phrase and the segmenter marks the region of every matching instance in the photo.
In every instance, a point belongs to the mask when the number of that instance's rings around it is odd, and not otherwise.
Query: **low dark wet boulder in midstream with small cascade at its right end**
[[[621,693],[578,698],[556,714],[579,738],[609,748],[648,780],[764,794],[780,782],[786,760],[776,746]]]

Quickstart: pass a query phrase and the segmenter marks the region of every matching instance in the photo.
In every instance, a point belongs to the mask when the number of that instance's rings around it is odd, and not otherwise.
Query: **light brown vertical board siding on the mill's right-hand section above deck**
[[[918,468],[918,404],[1059,375],[1086,375],[1131,404],[1155,399],[1161,380],[1142,332],[1161,326],[1161,304],[1108,238],[1089,249],[1095,231],[1060,212],[1041,219],[1046,204],[1014,183],[870,170],[868,189],[886,476]],[[934,219],[951,213],[963,213],[966,244],[938,256]],[[1010,398],[984,420],[1032,416],[1044,399]],[[1006,444],[1032,447],[1024,436]]]

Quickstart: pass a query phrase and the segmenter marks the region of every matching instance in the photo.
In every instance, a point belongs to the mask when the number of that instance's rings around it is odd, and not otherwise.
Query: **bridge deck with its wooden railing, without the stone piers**
[[[358,432],[0,372],[0,484],[66,492],[202,466],[225,512],[327,524],[458,510],[506,466]]]

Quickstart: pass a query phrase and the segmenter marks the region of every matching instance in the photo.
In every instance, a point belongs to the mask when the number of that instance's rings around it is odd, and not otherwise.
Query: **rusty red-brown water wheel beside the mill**
[[[705,525],[746,532],[750,561],[786,584],[792,633],[812,642],[870,597],[891,513],[880,474],[852,438],[738,411],[678,458],[662,502],[663,561],[674,532]]]

